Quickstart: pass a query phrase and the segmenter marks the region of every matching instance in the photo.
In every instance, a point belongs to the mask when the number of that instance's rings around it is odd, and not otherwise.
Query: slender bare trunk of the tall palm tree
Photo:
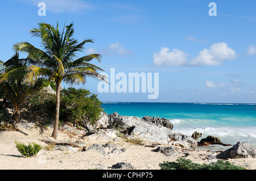
[[[55,110],[55,123],[52,132],[52,137],[57,138],[59,129],[59,114],[60,114],[60,83],[56,81],[56,110]]]

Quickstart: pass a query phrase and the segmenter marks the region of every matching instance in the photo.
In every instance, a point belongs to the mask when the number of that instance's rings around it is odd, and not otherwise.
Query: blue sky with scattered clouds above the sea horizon
[[[46,16],[39,16],[39,2]],[[210,2],[217,16],[209,16]],[[102,102],[256,103],[255,1],[1,1],[0,60],[21,41],[40,47],[29,31],[39,22],[75,23],[75,38],[90,38],[84,56],[102,54],[110,74],[159,73],[159,96],[148,92],[98,92],[99,81],[81,87]],[[26,57],[26,54],[21,56]],[[63,83],[64,87],[68,87]]]

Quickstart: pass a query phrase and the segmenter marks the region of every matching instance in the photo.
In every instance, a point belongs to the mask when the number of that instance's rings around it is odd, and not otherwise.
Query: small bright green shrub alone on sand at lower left
[[[43,146],[35,144],[34,142],[28,143],[28,145],[23,144],[22,142],[15,141],[16,148],[24,157],[32,157],[36,155]]]

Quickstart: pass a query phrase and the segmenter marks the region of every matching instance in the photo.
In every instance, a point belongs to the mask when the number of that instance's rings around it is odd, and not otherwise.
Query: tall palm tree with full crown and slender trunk
[[[63,27],[59,31],[59,25],[54,27],[47,23],[38,23],[39,28],[33,28],[30,33],[32,36],[40,37],[43,49],[34,47],[28,42],[16,43],[14,49],[19,52],[28,53],[28,74],[27,81],[34,84],[38,77],[53,79],[56,83],[56,110],[55,124],[52,137],[57,138],[60,110],[60,84],[62,81],[68,84],[84,84],[86,77],[104,79],[97,71],[102,70],[89,62],[93,59],[100,62],[100,54],[89,54],[77,57],[78,52],[84,50],[86,43],[94,43],[92,39],[85,39],[78,43],[73,39],[73,23]],[[73,60],[75,59],[75,60]]]

